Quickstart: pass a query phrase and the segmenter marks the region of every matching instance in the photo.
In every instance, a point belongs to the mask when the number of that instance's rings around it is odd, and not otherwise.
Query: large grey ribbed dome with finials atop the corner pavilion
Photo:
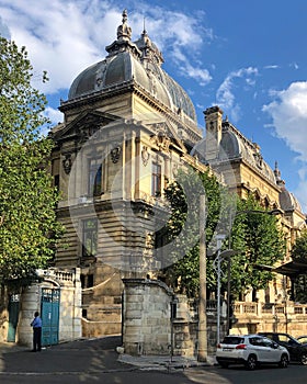
[[[83,70],[72,82],[68,99],[106,92],[111,88],[134,82],[172,112],[184,113],[196,124],[194,105],[187,93],[162,68],[163,58],[144,31],[140,38],[130,41],[127,13],[117,29],[117,39],[106,47],[109,56]]]

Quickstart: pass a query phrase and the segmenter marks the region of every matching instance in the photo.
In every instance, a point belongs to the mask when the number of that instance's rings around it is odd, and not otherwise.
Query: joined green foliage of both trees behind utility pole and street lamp
[[[277,260],[283,259],[285,253],[284,240],[277,227],[276,217],[263,214],[263,207],[252,196],[249,196],[247,201],[240,201],[237,195],[235,197],[229,195],[213,174],[208,172],[201,174],[195,170],[187,172],[181,170],[177,182],[166,190],[166,196],[171,205],[171,216],[166,231],[168,241],[178,237],[186,225],[189,215],[192,216],[189,219],[189,236],[174,241],[175,246],[171,252],[174,263],[164,271],[168,283],[190,297],[198,295],[198,204],[200,194],[204,191],[207,213],[207,291],[216,292],[217,273],[213,266],[216,252],[212,253],[211,245],[214,244],[214,236],[220,233],[226,235],[221,250],[231,248],[237,251],[237,255],[231,257],[234,298],[249,289],[254,292],[264,289],[272,280],[272,273],[263,270],[263,266],[274,266]],[[260,211],[260,213],[252,211]],[[178,260],[177,256],[183,247],[187,251],[182,259]],[[227,262],[227,260],[221,261],[225,272]],[[226,291],[227,273],[223,275],[221,283],[221,291]]]

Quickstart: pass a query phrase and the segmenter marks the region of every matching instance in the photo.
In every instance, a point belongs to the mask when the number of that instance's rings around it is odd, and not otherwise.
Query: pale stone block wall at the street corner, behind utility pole
[[[124,279],[123,347],[127,354],[171,354],[197,358],[198,305],[175,295],[158,280]],[[171,316],[171,306],[175,310]],[[207,302],[207,350],[216,351],[216,302]],[[226,332],[221,303],[220,337]]]

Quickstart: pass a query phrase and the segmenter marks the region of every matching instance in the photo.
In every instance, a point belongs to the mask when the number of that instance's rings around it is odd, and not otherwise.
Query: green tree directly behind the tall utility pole
[[[178,287],[190,297],[196,297],[200,291],[200,195],[206,195],[206,244],[207,247],[220,222],[223,211],[223,195],[226,190],[211,172],[197,172],[193,169],[179,170],[175,182],[164,191],[170,202],[171,215],[163,236],[172,242],[170,251],[173,263],[164,269],[168,283]],[[185,236],[179,237],[185,228]],[[185,250],[182,258],[178,255]],[[213,269],[214,255],[207,260],[207,289],[216,286],[216,276]],[[178,286],[179,284],[179,286]]]

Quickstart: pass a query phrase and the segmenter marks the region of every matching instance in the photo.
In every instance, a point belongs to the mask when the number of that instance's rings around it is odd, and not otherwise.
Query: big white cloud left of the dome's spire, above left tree
[[[106,4],[80,0],[41,0],[37,4],[36,0],[20,0],[11,5],[11,1],[1,1],[2,20],[12,39],[26,46],[36,72],[48,72],[47,83],[35,84],[43,92],[67,89],[82,69],[103,57],[104,46],[115,39],[114,25],[121,21],[121,13],[112,7],[106,18]]]

